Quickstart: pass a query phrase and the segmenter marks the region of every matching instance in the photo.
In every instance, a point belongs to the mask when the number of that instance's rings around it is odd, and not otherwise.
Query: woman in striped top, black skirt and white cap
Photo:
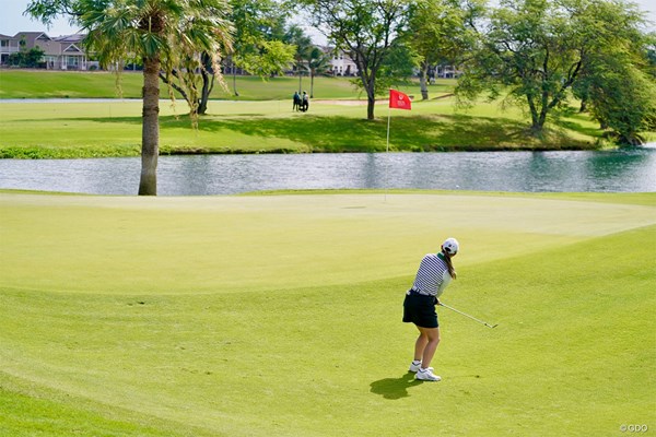
[[[403,321],[414,323],[419,329],[419,338],[414,343],[414,359],[410,371],[417,373],[414,378],[423,381],[438,381],[433,375],[431,361],[440,344],[440,328],[435,305],[440,305],[440,296],[444,288],[456,277],[452,258],[458,252],[458,241],[447,238],[438,253],[426,255],[419,264],[412,288],[406,293],[403,300]]]

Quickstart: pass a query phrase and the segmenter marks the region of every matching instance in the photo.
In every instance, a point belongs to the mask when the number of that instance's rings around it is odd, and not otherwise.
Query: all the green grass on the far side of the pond
[[[386,150],[385,96],[375,121],[364,120],[365,98],[347,78],[316,78],[308,114],[291,111],[297,78],[238,76],[239,96],[215,86],[208,115],[192,127],[184,101],[161,104],[161,153],[307,153]],[[142,75],[107,72],[0,71],[0,158],[137,156],[141,149]],[[304,78],[302,87],[309,90]],[[456,110],[454,80],[430,86],[419,99],[417,83],[400,86],[415,95],[412,111],[393,114],[390,149],[397,151],[597,150],[611,144],[587,115],[574,108],[549,120],[543,135],[527,129],[526,114],[480,102]],[[112,102],[2,103],[3,99],[110,98]],[[161,97],[168,98],[166,86]],[[133,101],[130,101],[133,99]],[[340,102],[348,101],[348,102]],[[75,102],[75,103],[73,103]],[[653,132],[646,132],[653,139]]]

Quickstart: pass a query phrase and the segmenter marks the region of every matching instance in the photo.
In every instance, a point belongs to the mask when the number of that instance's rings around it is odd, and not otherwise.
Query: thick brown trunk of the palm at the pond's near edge
[[[141,114],[141,179],[139,196],[157,196],[160,154],[160,58],[143,59],[143,109]]]

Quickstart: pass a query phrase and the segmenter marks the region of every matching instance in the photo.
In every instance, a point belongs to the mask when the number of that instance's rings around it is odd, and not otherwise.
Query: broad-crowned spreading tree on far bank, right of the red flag
[[[548,115],[599,71],[591,60],[634,46],[642,23],[623,0],[504,0],[460,67],[456,93],[462,102],[481,92],[505,95],[504,103],[528,107],[540,135]]]

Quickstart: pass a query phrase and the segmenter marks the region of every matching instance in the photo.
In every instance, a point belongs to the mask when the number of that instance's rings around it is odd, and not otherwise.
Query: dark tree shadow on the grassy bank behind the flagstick
[[[532,137],[522,120],[467,115],[398,117],[390,123],[389,144],[395,151],[485,151],[589,149],[562,130]],[[294,118],[222,119],[199,123],[199,130],[222,129],[254,137],[278,137],[302,143],[316,152],[384,151],[387,120],[306,116]]]

